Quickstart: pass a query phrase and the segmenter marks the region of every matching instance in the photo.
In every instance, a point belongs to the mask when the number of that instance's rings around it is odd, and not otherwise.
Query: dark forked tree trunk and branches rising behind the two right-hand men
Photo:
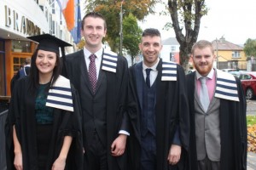
[[[185,71],[189,68],[189,57],[193,44],[197,41],[201,17],[207,14],[205,0],[168,0],[171,26],[180,44],[180,64]]]

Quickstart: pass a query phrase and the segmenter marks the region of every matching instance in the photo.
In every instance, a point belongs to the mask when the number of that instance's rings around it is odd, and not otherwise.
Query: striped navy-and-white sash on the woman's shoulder
[[[73,111],[71,86],[67,78],[59,76],[53,87],[49,88],[46,106]]]

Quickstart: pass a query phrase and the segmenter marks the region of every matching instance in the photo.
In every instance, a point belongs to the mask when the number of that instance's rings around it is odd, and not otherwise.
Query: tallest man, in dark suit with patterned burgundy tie
[[[102,47],[107,24],[91,12],[82,20],[82,50],[67,55],[63,74],[79,91],[83,115],[84,169],[123,170],[129,129],[125,112],[128,66],[124,57]]]

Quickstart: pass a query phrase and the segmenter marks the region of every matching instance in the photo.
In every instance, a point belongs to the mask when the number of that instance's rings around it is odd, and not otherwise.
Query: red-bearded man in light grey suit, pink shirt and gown
[[[247,169],[246,99],[238,78],[213,68],[212,43],[192,47],[187,75],[192,170]]]

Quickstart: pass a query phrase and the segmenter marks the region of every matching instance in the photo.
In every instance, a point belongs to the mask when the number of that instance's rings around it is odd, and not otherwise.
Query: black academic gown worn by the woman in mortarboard
[[[54,161],[59,156],[64,136],[67,135],[73,136],[73,142],[68,152],[65,169],[73,170],[82,169],[83,167],[79,97],[74,88],[72,88],[72,95],[74,112],[54,109],[52,133],[49,134],[51,135],[51,141],[49,144],[47,170],[51,169]],[[6,160],[9,170],[15,169],[13,143],[14,125],[21,146],[23,169],[38,169],[35,100],[36,95],[31,94],[31,90],[29,89],[29,77],[24,77],[16,82],[5,126]]]

